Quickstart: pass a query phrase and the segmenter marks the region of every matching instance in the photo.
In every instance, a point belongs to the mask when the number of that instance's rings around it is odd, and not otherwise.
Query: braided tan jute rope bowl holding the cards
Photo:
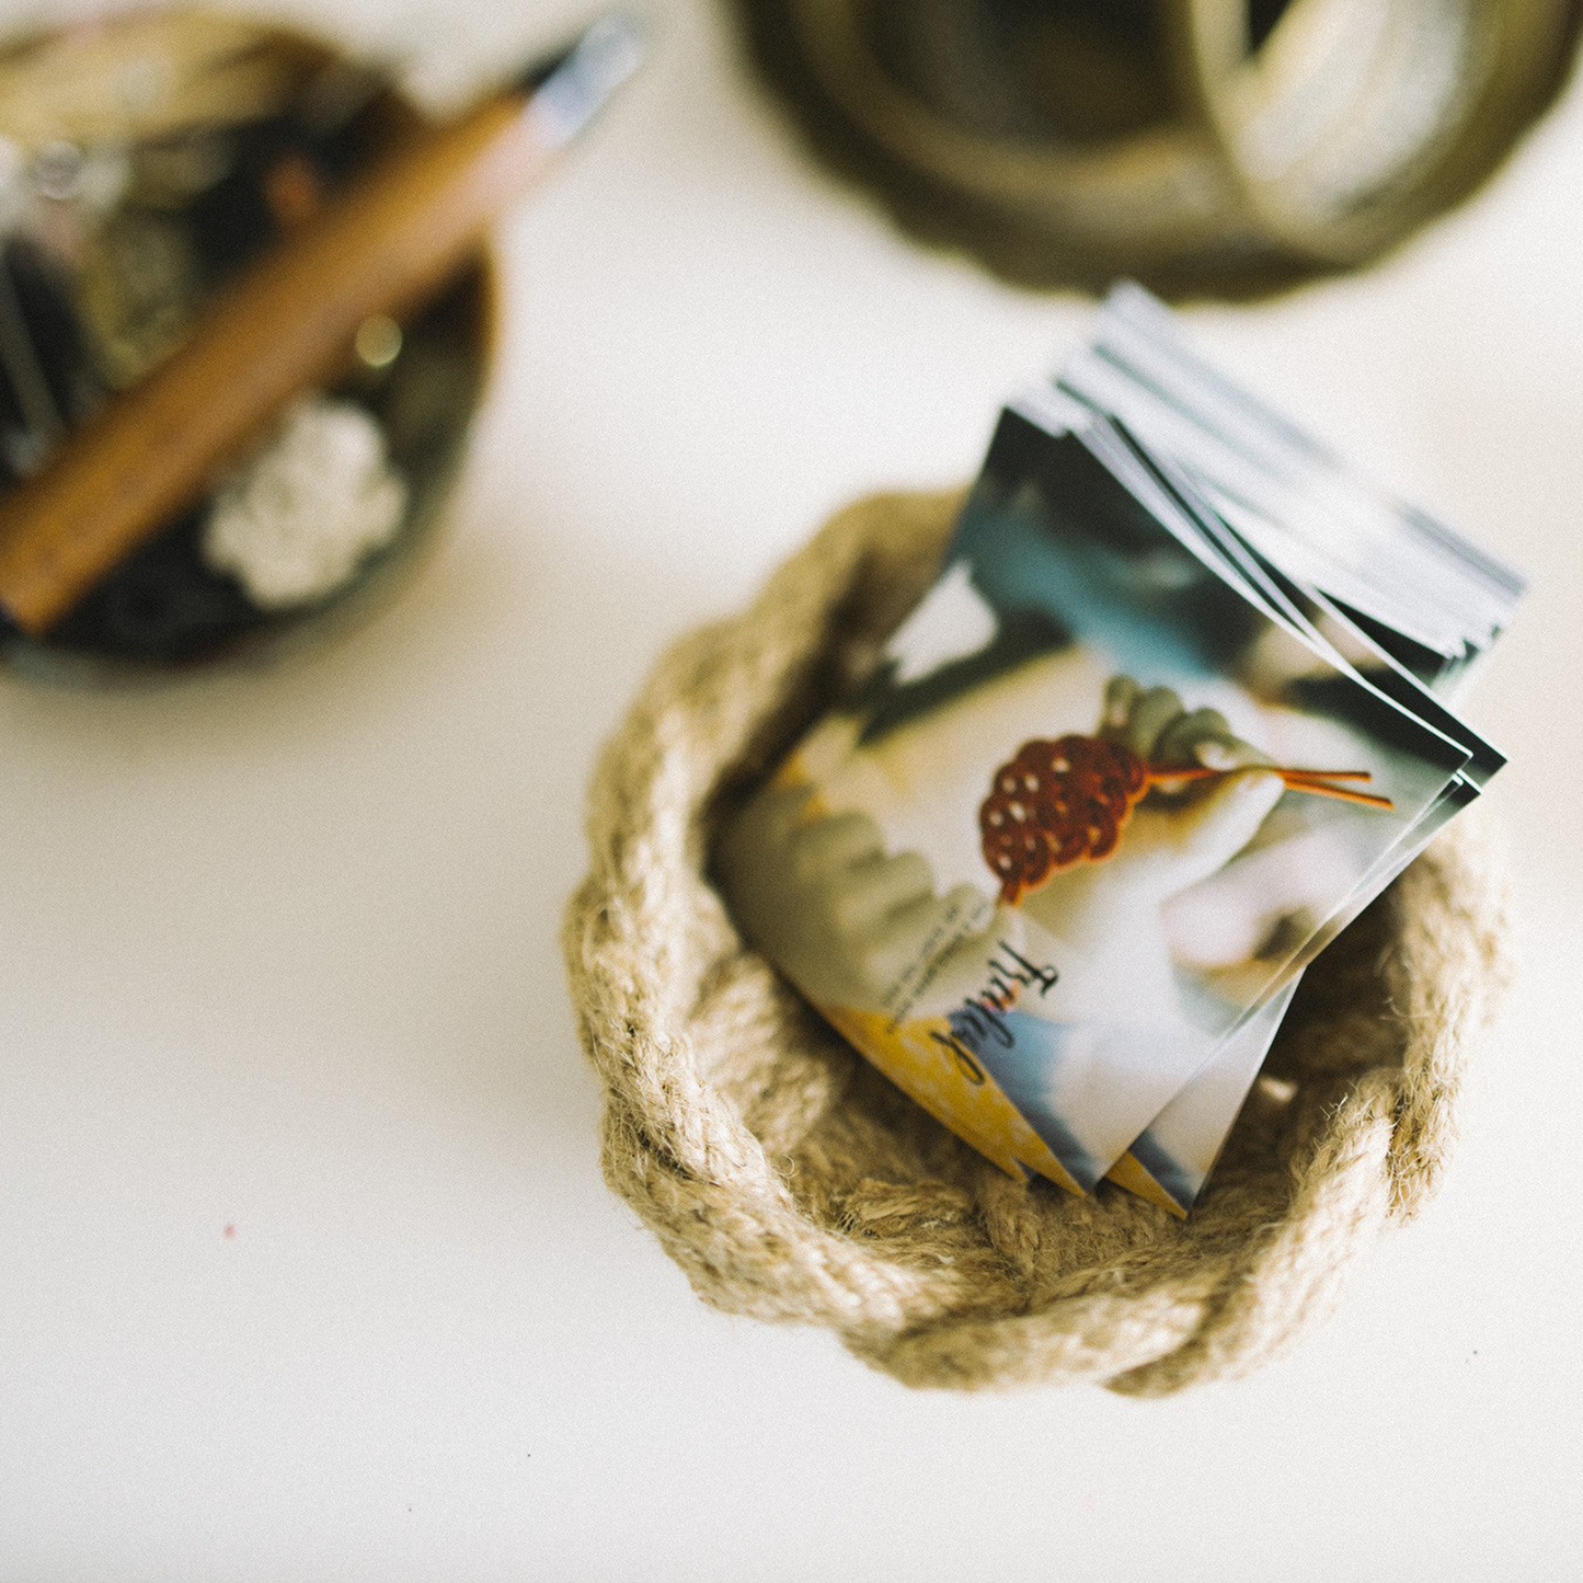
[[[565,948],[603,1165],[709,1303],[826,1325],[909,1385],[1244,1374],[1434,1192],[1505,978],[1498,867],[1460,820],[1311,969],[1192,1217],[1004,1178],[744,945],[712,833],[936,571],[953,497],[831,521],[679,641],[605,749]]]

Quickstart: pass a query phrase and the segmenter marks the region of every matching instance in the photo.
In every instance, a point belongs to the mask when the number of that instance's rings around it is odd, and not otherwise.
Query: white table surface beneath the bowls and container
[[[1387,268],[1192,313],[1536,576],[1474,709],[1524,978],[1444,1194],[1246,1384],[912,1395],[706,1309],[605,1189],[556,936],[659,646],[967,476],[1086,307],[912,250],[655,9],[503,231],[410,597],[274,674],[0,679],[0,1580],[1583,1575],[1583,95]],[[404,16],[505,60],[578,11]]]

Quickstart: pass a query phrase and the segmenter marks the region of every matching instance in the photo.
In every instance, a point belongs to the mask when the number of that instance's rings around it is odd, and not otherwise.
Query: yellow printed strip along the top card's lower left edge
[[[1032,1170],[1069,1192],[1083,1192],[994,1078],[929,1037],[934,1032],[950,1034],[951,1026],[943,1016],[893,1029],[886,1018],[872,1012],[848,1007],[820,1010],[896,1088],[994,1160],[1007,1176],[1024,1181]]]

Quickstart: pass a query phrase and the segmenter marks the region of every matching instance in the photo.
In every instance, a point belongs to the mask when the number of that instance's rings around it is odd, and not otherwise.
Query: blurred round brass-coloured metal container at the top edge
[[[815,150],[1032,287],[1366,264],[1551,103],[1583,0],[731,0]]]

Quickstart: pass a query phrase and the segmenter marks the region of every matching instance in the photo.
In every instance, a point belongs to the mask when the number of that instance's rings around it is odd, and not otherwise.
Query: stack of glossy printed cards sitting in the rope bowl
[[[1304,966],[1501,768],[1447,700],[1521,590],[1119,288],[722,886],[1000,1167],[1184,1214]]]

